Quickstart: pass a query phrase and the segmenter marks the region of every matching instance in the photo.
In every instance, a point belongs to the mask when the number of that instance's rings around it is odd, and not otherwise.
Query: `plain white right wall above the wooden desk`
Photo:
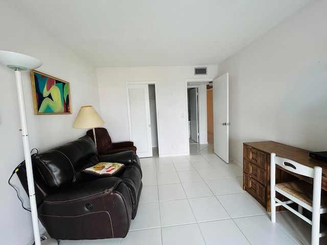
[[[229,72],[230,157],[273,140],[327,151],[327,1],[313,1],[219,65]]]

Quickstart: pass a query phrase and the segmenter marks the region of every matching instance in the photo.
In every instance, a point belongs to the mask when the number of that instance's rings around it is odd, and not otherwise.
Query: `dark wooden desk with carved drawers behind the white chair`
[[[270,212],[270,153],[273,152],[279,157],[289,158],[303,165],[321,166],[321,188],[327,191],[327,162],[309,157],[309,151],[274,141],[243,143],[243,189],[268,212]],[[312,183],[311,178],[276,168],[276,183],[297,178]]]

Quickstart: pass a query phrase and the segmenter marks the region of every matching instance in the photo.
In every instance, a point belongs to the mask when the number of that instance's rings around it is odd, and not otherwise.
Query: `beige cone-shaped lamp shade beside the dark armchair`
[[[82,106],[73,124],[76,129],[91,129],[104,125],[104,120],[92,106]]]

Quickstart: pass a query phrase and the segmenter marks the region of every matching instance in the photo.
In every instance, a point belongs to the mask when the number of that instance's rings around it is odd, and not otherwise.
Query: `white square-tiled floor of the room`
[[[190,156],[141,159],[143,190],[125,238],[61,240],[60,245],[310,244],[311,226],[290,212],[277,223],[243,191],[242,167],[190,144]],[[320,238],[320,244],[327,239]]]

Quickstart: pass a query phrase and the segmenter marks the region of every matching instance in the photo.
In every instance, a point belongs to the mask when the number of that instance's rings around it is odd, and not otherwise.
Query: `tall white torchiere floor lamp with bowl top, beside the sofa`
[[[30,205],[31,205],[35,245],[58,244],[57,240],[55,239],[46,239],[43,240],[41,243],[39,222],[37,216],[36,198],[35,198],[30,141],[29,141],[29,134],[27,128],[24,92],[22,89],[22,79],[21,79],[21,72],[20,72],[21,70],[36,69],[42,65],[42,62],[39,61],[38,59],[35,59],[27,55],[22,55],[9,51],[0,51],[0,64],[8,66],[9,68],[15,70],[21,134],[22,134],[22,142],[24,146],[24,155],[25,155],[25,163],[26,163],[26,171],[27,171],[27,182],[28,182],[28,189],[29,189],[29,198],[30,198]]]

